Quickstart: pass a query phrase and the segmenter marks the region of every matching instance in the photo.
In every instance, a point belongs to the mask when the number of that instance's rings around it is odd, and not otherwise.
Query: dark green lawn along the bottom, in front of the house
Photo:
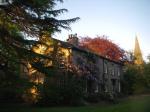
[[[117,104],[47,108],[3,107],[0,112],[150,112],[150,95],[132,96]]]

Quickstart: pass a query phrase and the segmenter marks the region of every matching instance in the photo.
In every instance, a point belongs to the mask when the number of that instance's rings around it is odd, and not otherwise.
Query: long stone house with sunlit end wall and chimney
[[[81,71],[82,75],[86,77],[86,84],[83,88],[85,92],[103,92],[111,94],[117,94],[121,92],[120,80],[123,73],[122,63],[110,60],[106,57],[79,47],[77,35],[69,35],[67,42],[53,38],[51,39],[58,43],[61,51],[64,53],[62,62],[59,64],[60,69],[64,69],[66,64],[68,68],[70,65],[75,65],[79,72]],[[37,53],[38,52],[39,51],[37,51]],[[29,75],[32,77],[32,73],[34,73],[36,70],[29,70]],[[26,73],[28,72],[27,70],[24,71],[26,71]],[[36,83],[43,83],[44,75],[38,73],[38,75],[36,75],[36,77],[34,75],[32,79],[32,81]]]

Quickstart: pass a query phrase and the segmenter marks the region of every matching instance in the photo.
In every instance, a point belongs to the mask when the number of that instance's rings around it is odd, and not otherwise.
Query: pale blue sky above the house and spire
[[[137,35],[143,58],[150,54],[150,0],[64,0],[56,8],[69,10],[61,19],[80,20],[70,25],[71,31],[62,29],[54,38],[66,40],[75,33],[92,38],[106,35],[121,48],[133,51]]]

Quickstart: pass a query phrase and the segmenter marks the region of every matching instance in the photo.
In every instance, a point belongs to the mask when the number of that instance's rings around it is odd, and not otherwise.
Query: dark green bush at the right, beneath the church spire
[[[122,80],[122,91],[125,95],[142,94],[147,91],[147,79],[144,72],[143,66],[127,66]]]

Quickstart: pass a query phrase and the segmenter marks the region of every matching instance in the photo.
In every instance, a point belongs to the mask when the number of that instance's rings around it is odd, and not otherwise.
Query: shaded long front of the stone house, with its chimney
[[[79,70],[87,71],[84,74],[86,76],[86,92],[112,94],[121,92],[122,63],[78,47],[78,39],[75,35],[69,36],[68,42],[72,44],[70,47],[72,63]]]

